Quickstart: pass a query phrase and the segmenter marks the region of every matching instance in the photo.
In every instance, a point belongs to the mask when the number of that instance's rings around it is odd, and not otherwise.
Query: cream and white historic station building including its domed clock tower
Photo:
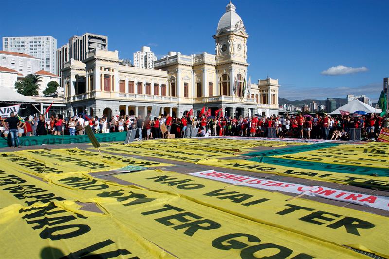
[[[62,69],[68,115],[146,115],[152,105],[181,117],[191,108],[222,108],[227,116],[278,114],[278,80],[267,78],[246,84],[245,26],[230,2],[220,18],[215,54],[183,55],[169,52],[154,69],[132,67],[117,51],[95,49],[83,61],[71,59]],[[195,113],[194,112],[194,113]]]

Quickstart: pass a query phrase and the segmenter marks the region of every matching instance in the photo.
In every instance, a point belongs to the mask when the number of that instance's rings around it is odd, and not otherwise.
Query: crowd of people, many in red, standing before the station
[[[251,137],[278,137],[278,138],[306,138],[349,140],[349,131],[352,128],[361,129],[361,136],[365,140],[375,140],[381,127],[389,128],[389,114],[363,116],[327,114],[289,116],[251,116],[251,117],[206,117],[187,114],[181,118],[160,115],[158,118],[150,116],[116,115],[108,118],[90,117],[79,114],[74,117],[63,118],[61,114],[52,114],[46,119],[43,114],[28,116],[24,119],[11,114],[2,119],[0,125],[1,136],[7,138],[10,134],[13,146],[20,146],[18,137],[40,135],[83,135],[85,127],[89,125],[95,133],[123,132],[137,129],[138,140],[150,138],[166,138],[162,134],[160,125],[165,124],[168,134],[176,138],[207,137],[207,136],[251,136]]]

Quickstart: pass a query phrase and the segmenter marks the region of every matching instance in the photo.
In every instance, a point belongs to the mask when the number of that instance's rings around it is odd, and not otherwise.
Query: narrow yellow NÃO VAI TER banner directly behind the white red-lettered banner
[[[359,174],[356,175],[353,173],[336,173],[328,171],[308,170],[248,160],[202,159],[197,163],[201,165],[231,168],[256,173],[270,173],[316,181],[334,182],[340,184],[362,186],[367,188],[389,190],[389,177],[385,176],[369,176]]]

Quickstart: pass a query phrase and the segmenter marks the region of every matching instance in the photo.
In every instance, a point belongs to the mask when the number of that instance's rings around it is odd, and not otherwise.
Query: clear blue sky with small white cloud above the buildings
[[[389,77],[388,0],[233,3],[250,35],[252,82],[267,75],[278,78],[280,97],[290,100],[345,98],[348,93],[378,99],[383,77]],[[0,37],[52,35],[59,47],[72,35],[97,33],[108,36],[109,50],[131,60],[143,45],[158,57],[168,51],[214,54],[212,35],[227,4],[8,0],[2,3]]]

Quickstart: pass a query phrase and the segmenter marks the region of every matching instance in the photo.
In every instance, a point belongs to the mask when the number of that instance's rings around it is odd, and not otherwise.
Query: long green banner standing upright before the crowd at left
[[[124,141],[127,132],[112,132],[95,134],[99,142]],[[76,136],[59,136],[59,135],[42,135],[32,137],[19,137],[20,145],[36,146],[36,145],[54,145],[54,144],[70,144],[70,143],[86,143],[90,142],[88,135]],[[7,139],[0,138],[0,147],[8,147]]]

